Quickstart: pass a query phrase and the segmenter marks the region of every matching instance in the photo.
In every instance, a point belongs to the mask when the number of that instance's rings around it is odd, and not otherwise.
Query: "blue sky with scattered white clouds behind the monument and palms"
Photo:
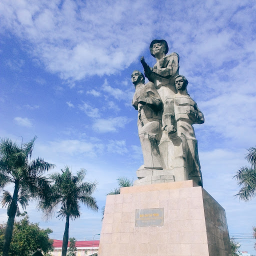
[[[0,137],[36,135],[33,157],[55,171],[86,168],[101,208],[116,178],[136,179],[142,164],[130,74],[142,71],[141,55],[152,66],[149,43],[165,39],[205,117],[194,125],[204,188],[225,208],[230,235],[251,233],[255,199],[234,198],[232,176],[256,144],[255,12],[249,0],[2,0]],[[34,203],[27,211],[62,239],[63,221],[45,222]],[[91,239],[100,218],[82,208],[70,237]],[[255,253],[252,239],[237,241]]]

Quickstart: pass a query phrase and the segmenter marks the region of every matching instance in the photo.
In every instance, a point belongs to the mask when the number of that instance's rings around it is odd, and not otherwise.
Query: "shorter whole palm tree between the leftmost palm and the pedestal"
[[[85,204],[89,209],[98,210],[96,200],[91,196],[96,188],[95,182],[83,182],[85,170],[81,169],[73,176],[68,166],[61,169],[62,173],[50,175],[53,181],[50,193],[45,196],[39,203],[39,208],[49,218],[58,209],[57,217],[65,217],[65,230],[62,242],[62,256],[66,255],[68,243],[69,219],[76,219],[80,216],[80,202]]]

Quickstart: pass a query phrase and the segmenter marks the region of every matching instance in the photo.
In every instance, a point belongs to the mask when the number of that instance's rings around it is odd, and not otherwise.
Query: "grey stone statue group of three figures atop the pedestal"
[[[149,46],[156,59],[150,67],[142,56],[144,75],[134,70],[132,105],[138,110],[138,135],[144,164],[137,170],[134,184],[151,184],[193,179],[202,185],[197,140],[192,124],[204,117],[187,93],[187,79],[179,75],[179,56],[168,55],[165,40],[155,39]]]

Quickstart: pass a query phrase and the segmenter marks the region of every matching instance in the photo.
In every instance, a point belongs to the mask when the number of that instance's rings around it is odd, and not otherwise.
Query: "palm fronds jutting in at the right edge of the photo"
[[[249,201],[256,195],[256,147],[247,149],[245,159],[250,166],[240,167],[233,176],[238,181],[237,184],[242,186],[235,196],[244,201]]]

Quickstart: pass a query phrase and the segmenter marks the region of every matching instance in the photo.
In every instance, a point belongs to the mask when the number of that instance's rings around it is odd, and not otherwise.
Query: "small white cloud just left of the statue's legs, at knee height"
[[[98,132],[115,132],[118,128],[122,128],[130,122],[130,119],[126,116],[117,116],[107,119],[96,119],[92,127]]]

